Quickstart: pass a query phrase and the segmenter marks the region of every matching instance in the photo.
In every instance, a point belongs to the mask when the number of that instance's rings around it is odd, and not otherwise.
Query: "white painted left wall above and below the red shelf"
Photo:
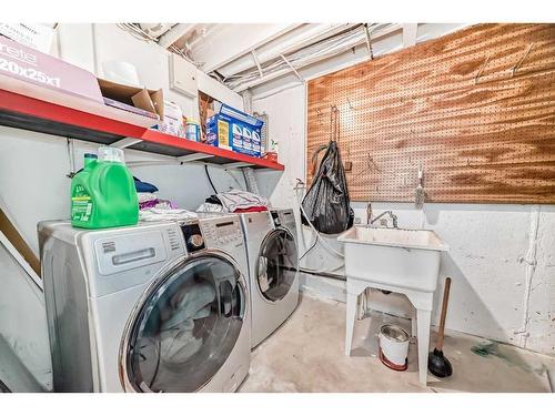
[[[185,115],[198,112],[194,100],[169,89],[169,52],[133,38],[115,24],[61,24],[53,50],[64,60],[90,71],[100,69],[104,60],[131,62],[147,87],[162,88],[165,99],[178,102]],[[101,71],[97,74],[102,75]],[[239,94],[208,77],[199,78],[203,91],[242,109]],[[83,165],[83,153],[98,146],[80,141],[73,144],[77,171]],[[161,160],[131,150],[125,150],[125,159],[128,162]],[[64,138],[0,126],[0,204],[37,255],[37,223],[69,217],[70,179],[67,174],[70,171],[70,151]],[[158,185],[159,195],[175,201],[180,207],[195,210],[213,193],[200,164],[141,166],[131,171],[141,180]],[[236,182],[243,184],[242,175],[236,172],[218,168],[211,168],[210,172],[219,191],[238,187]],[[3,251],[0,251],[0,268],[1,335],[48,388],[50,353],[42,296],[29,288],[24,272]]]

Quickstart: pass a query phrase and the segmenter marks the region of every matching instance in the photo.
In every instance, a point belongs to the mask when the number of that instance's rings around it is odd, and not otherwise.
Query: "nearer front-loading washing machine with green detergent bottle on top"
[[[232,392],[250,366],[234,215],[87,231],[39,224],[57,392]]]

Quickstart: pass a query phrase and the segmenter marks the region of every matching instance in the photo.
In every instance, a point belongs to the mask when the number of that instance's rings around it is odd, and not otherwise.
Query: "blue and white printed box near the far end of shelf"
[[[260,158],[263,124],[262,120],[214,102],[214,115],[206,120],[206,143]]]

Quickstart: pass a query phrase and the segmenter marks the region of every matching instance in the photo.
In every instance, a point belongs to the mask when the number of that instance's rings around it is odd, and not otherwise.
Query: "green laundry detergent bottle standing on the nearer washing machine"
[[[84,168],[71,180],[71,225],[108,229],[135,225],[139,200],[121,149],[101,146],[99,158],[84,155]]]

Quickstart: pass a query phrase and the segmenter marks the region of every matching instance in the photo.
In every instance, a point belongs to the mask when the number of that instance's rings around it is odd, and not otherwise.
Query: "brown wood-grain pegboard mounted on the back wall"
[[[555,24],[478,24],[311,80],[309,164],[332,105],[353,201],[414,201],[422,164],[427,202],[555,203]]]

